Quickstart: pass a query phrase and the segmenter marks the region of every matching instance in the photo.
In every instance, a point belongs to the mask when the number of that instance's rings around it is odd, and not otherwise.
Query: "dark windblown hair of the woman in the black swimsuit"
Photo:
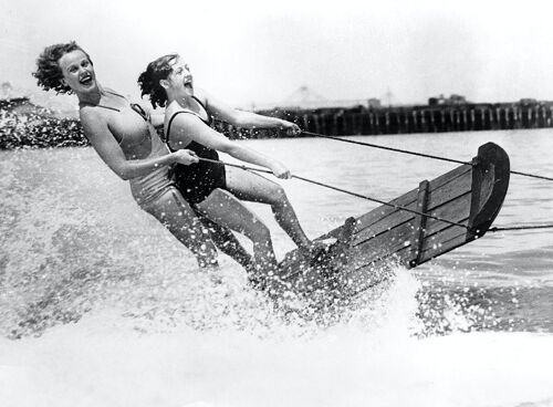
[[[150,62],[140,76],[138,76],[138,86],[140,86],[142,96],[148,95],[152,106],[165,107],[167,104],[167,94],[161,87],[159,81],[166,80],[173,72],[171,62],[179,58],[178,54],[168,54]]]

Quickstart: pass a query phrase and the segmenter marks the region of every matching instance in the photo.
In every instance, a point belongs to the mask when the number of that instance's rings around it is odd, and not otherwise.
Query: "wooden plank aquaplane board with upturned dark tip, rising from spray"
[[[319,258],[288,253],[281,263],[283,279],[298,293],[347,298],[377,283],[390,264],[414,268],[467,244],[482,237],[495,219],[509,175],[507,153],[493,143],[484,144],[470,165],[424,180],[392,200],[392,206],[349,218],[320,237],[337,240]]]

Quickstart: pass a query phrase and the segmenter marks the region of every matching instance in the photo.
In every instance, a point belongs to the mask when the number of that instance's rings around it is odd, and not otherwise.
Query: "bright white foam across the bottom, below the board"
[[[102,311],[41,337],[0,340],[0,404],[552,405],[553,335],[417,338],[417,284],[409,274],[401,275],[373,309],[324,330],[252,324],[148,332],[140,324],[135,330],[133,319]]]

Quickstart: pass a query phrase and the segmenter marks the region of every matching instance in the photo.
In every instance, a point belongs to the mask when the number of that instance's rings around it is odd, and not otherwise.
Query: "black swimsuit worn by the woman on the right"
[[[194,97],[194,96],[192,96]],[[208,119],[204,119],[200,115],[192,111],[175,112],[167,125],[165,142],[171,152],[174,149],[169,144],[169,135],[173,119],[180,113],[188,113],[198,116],[208,126],[211,124],[211,116],[208,114],[204,104],[194,97],[196,102],[204,108]],[[200,158],[209,158],[219,160],[219,155],[212,148],[206,147],[199,143],[190,142],[185,148],[195,152]],[[174,167],[174,179],[182,197],[190,204],[196,205],[206,199],[209,194],[216,188],[227,189],[227,175],[225,166],[220,164],[202,161],[189,166],[177,164]]]

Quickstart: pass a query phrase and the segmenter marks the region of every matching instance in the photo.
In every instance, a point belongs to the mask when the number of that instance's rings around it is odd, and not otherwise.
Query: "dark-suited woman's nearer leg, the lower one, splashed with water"
[[[196,208],[212,221],[243,233],[253,242],[253,259],[258,271],[276,270],[276,260],[268,227],[234,196],[215,189]]]

